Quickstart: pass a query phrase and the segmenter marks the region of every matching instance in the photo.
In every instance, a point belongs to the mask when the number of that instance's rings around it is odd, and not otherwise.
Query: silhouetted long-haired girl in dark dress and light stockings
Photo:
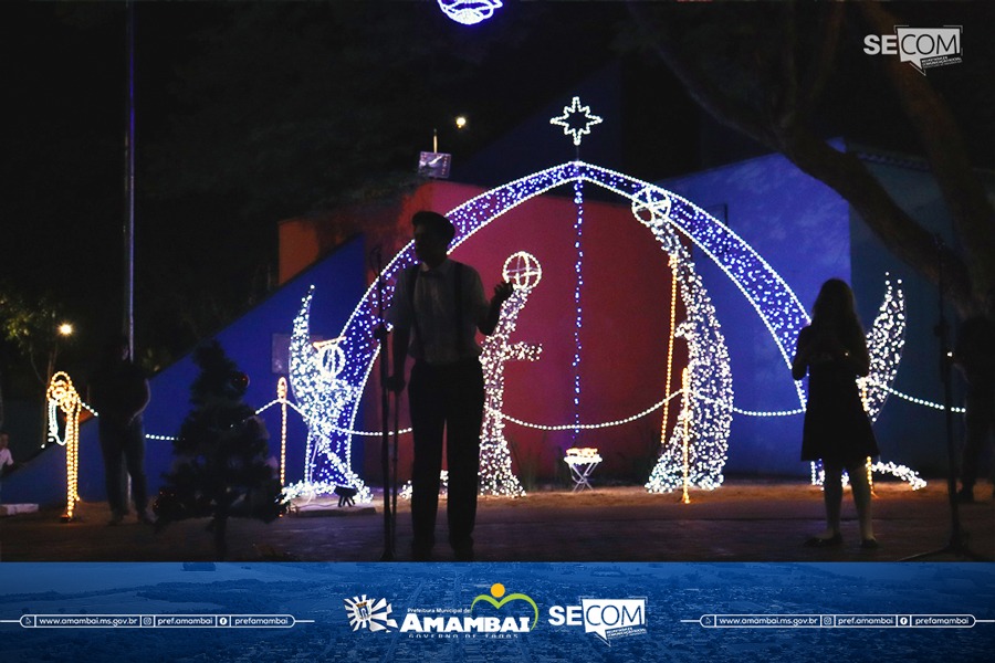
[[[792,376],[808,373],[808,406],[802,438],[802,460],[823,461],[826,530],[806,546],[839,546],[842,471],[850,476],[862,548],[877,548],[871,524],[868,456],[878,455],[870,419],[857,390],[857,378],[870,371],[863,329],[857,319],[853,292],[839,278],[823,284],[811,312],[811,325],[798,334]]]

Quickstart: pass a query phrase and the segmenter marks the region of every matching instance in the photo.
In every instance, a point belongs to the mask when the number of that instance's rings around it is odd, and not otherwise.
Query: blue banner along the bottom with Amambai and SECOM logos
[[[12,661],[989,661],[991,564],[2,564]]]

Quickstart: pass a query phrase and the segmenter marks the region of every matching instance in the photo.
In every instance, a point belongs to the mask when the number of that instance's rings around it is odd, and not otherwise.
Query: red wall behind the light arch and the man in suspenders
[[[587,185],[588,192],[593,185]],[[408,220],[413,211],[432,209],[446,212],[482,190],[449,182],[432,182],[392,207],[384,207],[375,219],[369,243],[384,242],[385,261],[409,239]],[[569,424],[574,418],[574,328],[576,311],[574,287],[576,249],[574,223],[577,206],[573,189],[556,190],[522,204],[474,234],[452,253],[455,260],[475,266],[490,295],[501,280],[505,259],[516,251],[535,255],[543,278],[532,292],[519,317],[512,341],[541,344],[536,362],[506,366],[504,411],[517,419],[542,424]],[[358,212],[356,212],[358,214]],[[374,219],[375,214],[366,214]],[[358,218],[358,217],[357,217]],[[321,220],[291,221],[281,225],[281,255],[313,255],[325,249],[295,246],[290,242],[307,239],[303,227],[321,228]],[[287,242],[284,245],[284,242]],[[640,225],[621,201],[619,204],[587,202],[584,206],[584,287],[582,290],[583,328],[580,344],[580,421],[597,423],[625,419],[660,401],[664,385],[670,317],[670,270],[667,255],[652,234]],[[303,265],[302,265],[303,266]],[[284,270],[281,265],[281,275]],[[678,313],[678,320],[682,317]],[[671,387],[680,386],[680,370],[687,365],[683,341],[677,341],[678,356]],[[374,378],[376,370],[374,371]],[[379,429],[379,397],[376,379],[364,396],[367,430]],[[671,422],[679,399],[670,408]],[[401,409],[406,425],[407,409]],[[574,440],[572,431],[538,431],[507,423],[505,436],[513,442],[513,457],[520,477],[535,475],[547,480],[566,473],[563,450],[595,446],[605,459],[596,471],[595,483],[617,478],[646,481],[659,453],[662,410],[632,423],[597,431],[582,431]],[[365,477],[379,477],[379,440],[365,439]],[[410,439],[400,444],[401,480],[410,467]]]

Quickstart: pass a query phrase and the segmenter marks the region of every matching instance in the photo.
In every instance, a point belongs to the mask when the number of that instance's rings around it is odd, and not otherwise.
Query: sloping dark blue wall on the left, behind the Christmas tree
[[[265,302],[232,323],[214,338],[228,356],[249,375],[245,402],[259,408],[276,398],[273,371],[274,335],[290,338],[294,317],[308,287],[317,286],[312,307],[312,334],[334,338],[345,325],[366,291],[366,261],[363,240],[357,238],[285,284]],[[149,381],[151,402],[145,413],[146,434],[175,435],[190,409],[190,385],[198,376],[191,355],[180,359]],[[83,376],[74,381],[85,385]],[[263,413],[270,432],[270,453],[280,456],[280,408]],[[104,469],[96,423],[91,421],[80,431],[80,495],[84,502],[104,501]],[[300,481],[306,430],[293,411],[287,418],[287,482]],[[354,445],[354,466],[363,466],[363,445]],[[149,496],[154,498],[163,484],[163,473],[172,463],[172,443],[148,440],[145,469]],[[59,504],[65,499],[65,452],[49,448],[3,482],[7,502]]]

